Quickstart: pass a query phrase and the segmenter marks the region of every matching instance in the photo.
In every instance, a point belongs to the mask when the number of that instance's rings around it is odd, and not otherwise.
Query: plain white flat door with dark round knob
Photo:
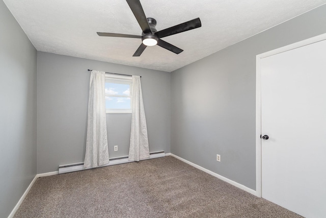
[[[326,40],[261,59],[262,197],[326,217]]]

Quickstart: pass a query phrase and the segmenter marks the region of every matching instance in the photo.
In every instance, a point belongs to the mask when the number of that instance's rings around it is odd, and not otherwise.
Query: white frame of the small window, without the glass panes
[[[105,104],[105,113],[132,113],[132,77],[128,76],[118,76],[118,75],[110,75],[105,74],[105,83],[118,83],[118,84],[127,84],[130,85],[130,95],[119,95],[119,94],[106,94],[105,97],[122,97],[122,98],[130,98],[130,109],[109,109],[106,108]],[[105,99],[106,103],[106,99]]]

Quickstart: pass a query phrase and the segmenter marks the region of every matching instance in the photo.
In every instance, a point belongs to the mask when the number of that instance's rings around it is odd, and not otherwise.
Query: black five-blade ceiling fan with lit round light
[[[202,26],[199,18],[189,20],[187,22],[180,23],[179,25],[167,28],[165,30],[157,31],[156,20],[154,18],[146,18],[143,7],[140,0],[126,0],[133,15],[137,19],[139,26],[142,28],[142,35],[128,35],[128,34],[118,34],[118,33],[100,33],[97,32],[99,36],[111,36],[111,37],[125,37],[125,38],[140,38],[143,43],[138,47],[137,51],[132,55],[133,57],[139,57],[147,46],[159,45],[164,49],[167,49],[175,54],[183,52],[182,49],[161,40],[161,38],[166,36],[171,36],[177,33],[182,33],[188,30],[193,30]]]

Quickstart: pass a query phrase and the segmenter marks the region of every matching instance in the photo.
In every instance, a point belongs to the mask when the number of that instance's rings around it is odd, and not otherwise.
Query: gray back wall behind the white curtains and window
[[[90,72],[142,76],[150,152],[170,152],[170,73],[38,52],[37,173],[83,162]],[[128,155],[131,114],[107,114],[109,155]],[[113,147],[118,145],[118,151]]]

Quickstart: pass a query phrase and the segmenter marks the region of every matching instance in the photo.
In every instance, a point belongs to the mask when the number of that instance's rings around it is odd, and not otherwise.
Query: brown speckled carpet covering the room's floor
[[[38,178],[14,217],[301,217],[174,157]]]

